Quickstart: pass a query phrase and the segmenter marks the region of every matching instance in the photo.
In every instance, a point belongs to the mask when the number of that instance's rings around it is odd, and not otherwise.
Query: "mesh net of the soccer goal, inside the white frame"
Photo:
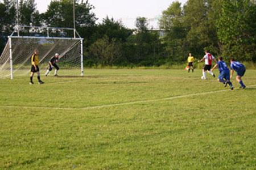
[[[0,78],[11,75],[10,40],[13,58],[13,76],[23,76],[30,73],[31,56],[35,49],[39,50],[39,69],[44,74],[49,61],[55,53],[59,53],[59,75],[81,74],[81,44],[79,39],[47,39],[39,37],[11,37],[0,57]],[[54,68],[53,71],[54,72]],[[50,73],[50,75],[53,73]]]

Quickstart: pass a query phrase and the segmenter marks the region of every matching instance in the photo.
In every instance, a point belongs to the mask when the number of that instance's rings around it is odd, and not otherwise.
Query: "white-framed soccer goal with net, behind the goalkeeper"
[[[74,33],[72,33],[74,32]],[[73,37],[69,37],[69,36]],[[0,78],[23,76],[30,73],[31,56],[39,50],[40,73],[48,69],[48,62],[59,53],[59,74],[83,75],[82,41],[73,28],[19,26],[8,37],[0,57]]]

